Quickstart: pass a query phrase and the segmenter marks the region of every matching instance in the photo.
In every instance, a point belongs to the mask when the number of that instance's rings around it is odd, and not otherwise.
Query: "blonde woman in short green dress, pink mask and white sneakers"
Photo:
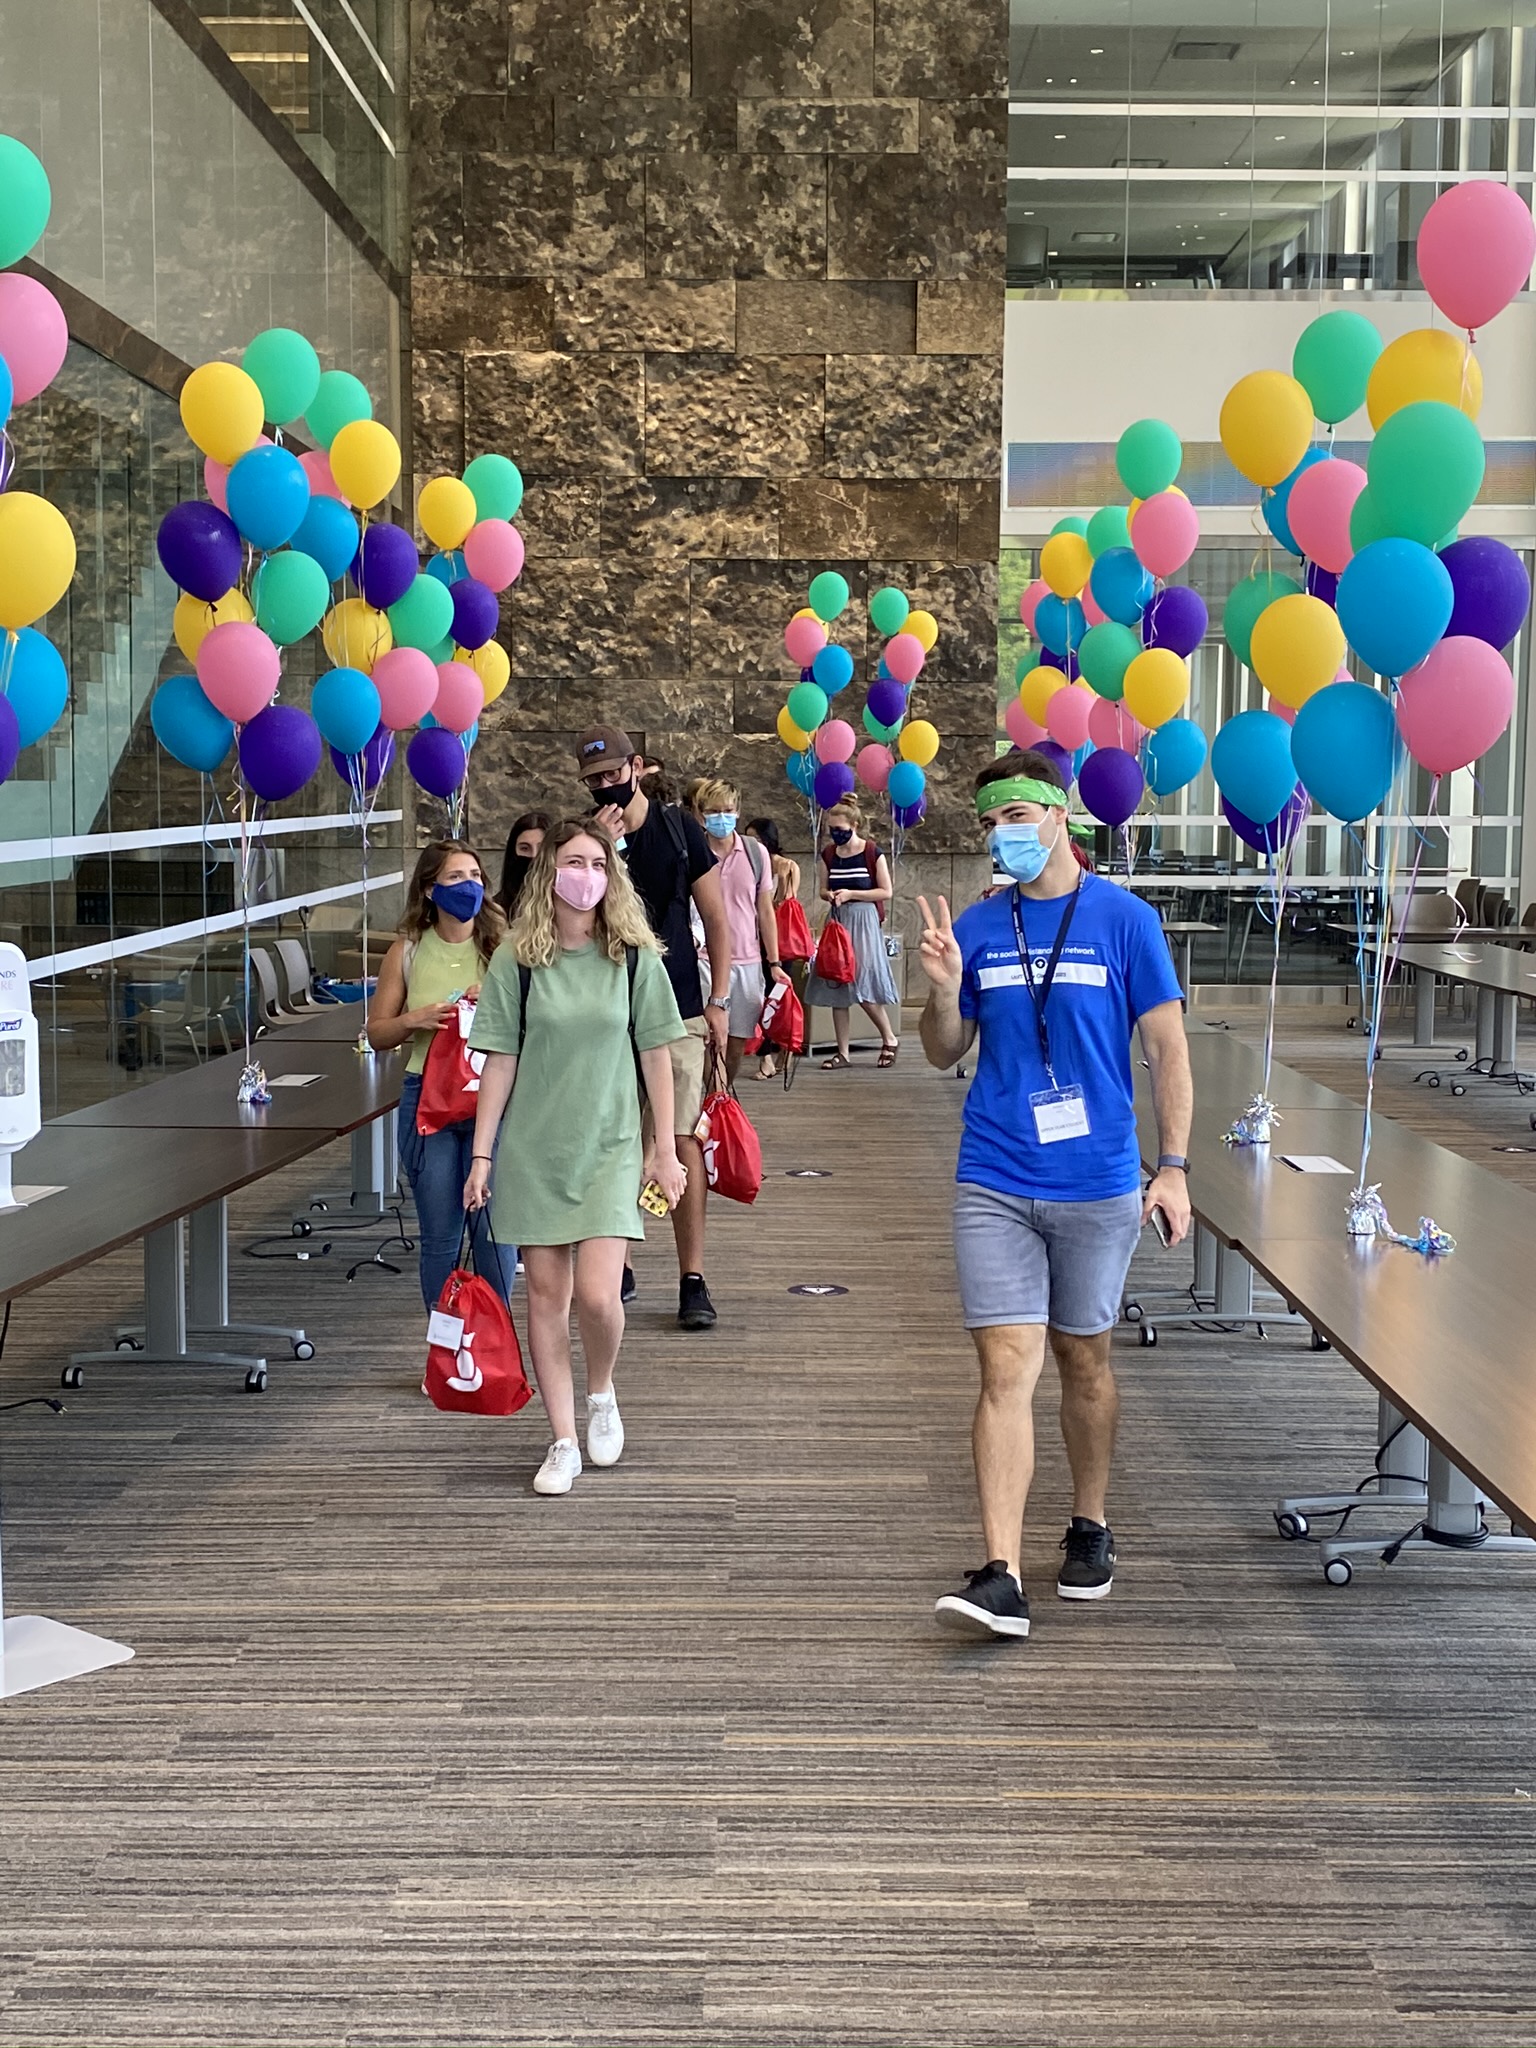
[[[563,819],[535,856],[508,940],[492,958],[471,1047],[483,1051],[465,1208],[489,1196],[498,1241],[520,1245],[528,1348],[555,1440],[535,1493],[569,1493],[582,1470],[571,1384],[571,1294],[586,1354],[586,1454],[616,1464],[625,1425],[612,1389],[625,1249],[643,1237],[639,1192],[668,1208],[686,1171],[672,1139],[672,1059],[684,1036],[645,909],[610,836]],[[659,1137],[641,1147],[637,1069]]]

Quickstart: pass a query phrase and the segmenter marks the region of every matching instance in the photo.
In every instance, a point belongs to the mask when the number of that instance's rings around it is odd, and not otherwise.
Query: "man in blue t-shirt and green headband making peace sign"
[[[952,1067],[981,1028],[956,1167],[954,1262],[965,1327],[981,1360],[971,1444],[989,1563],[936,1616],[967,1634],[1026,1636],[1018,1575],[1034,1475],[1034,1382],[1044,1337],[1061,1372],[1061,1434],[1073,1513],[1057,1575],[1063,1599],[1114,1583],[1104,1497],[1118,1395],[1110,1331],[1130,1253],[1157,1208],[1169,1241],[1190,1227],[1186,1186],[1194,1087],[1184,1006],[1157,913],[1085,874],[1067,838],[1067,791],[1042,754],[1014,752],[977,776],[1001,889],[950,926],[924,913],[932,989],[924,1053]],[[1130,1034],[1151,1067],[1161,1157],[1141,1186]]]

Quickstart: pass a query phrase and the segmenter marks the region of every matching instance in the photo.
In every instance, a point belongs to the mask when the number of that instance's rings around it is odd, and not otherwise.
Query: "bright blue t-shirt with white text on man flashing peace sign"
[[[1047,1006],[1057,1087],[1081,1087],[1087,1137],[1042,1145],[1030,1096],[1051,1087],[1040,1057],[1034,997],[1014,932],[1014,889],[973,903],[954,922],[965,961],[961,1016],[981,1026],[981,1053],[965,1100],[954,1178],[1049,1202],[1102,1202],[1141,1186],[1130,1034],[1159,1004],[1182,997],[1157,911],[1096,874],[1083,874],[1077,909]],[[1018,897],[1036,989],[1071,897]]]

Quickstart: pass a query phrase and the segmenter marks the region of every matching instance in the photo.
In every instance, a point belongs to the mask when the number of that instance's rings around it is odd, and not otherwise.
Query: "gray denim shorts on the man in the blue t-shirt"
[[[1049,1323],[1096,1337],[1120,1317],[1120,1292],[1141,1235],[1141,1194],[1102,1202],[1036,1202],[961,1182],[954,1266],[967,1329]]]

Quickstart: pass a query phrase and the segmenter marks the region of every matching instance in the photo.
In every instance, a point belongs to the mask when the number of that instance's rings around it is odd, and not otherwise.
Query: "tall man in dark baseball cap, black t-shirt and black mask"
[[[705,1102],[705,1053],[715,1044],[721,1065],[731,1012],[731,928],[715,866],[715,854],[698,821],[674,805],[651,803],[641,788],[645,760],[635,741],[616,725],[594,725],[575,741],[575,772],[586,782],[596,815],[629,864],[651,930],[662,940],[662,958],[678,997],[686,1038],[672,1053],[674,1128],[678,1157],[688,1167],[688,1190],[672,1210],[678,1243],[678,1325],[711,1329],[715,1303],[705,1284],[705,1204],[709,1180],[705,1149],[694,1137]],[[688,905],[698,907],[709,944],[709,1001],[698,979],[698,954],[688,922]],[[625,1268],[625,1300],[635,1292],[635,1274]]]

